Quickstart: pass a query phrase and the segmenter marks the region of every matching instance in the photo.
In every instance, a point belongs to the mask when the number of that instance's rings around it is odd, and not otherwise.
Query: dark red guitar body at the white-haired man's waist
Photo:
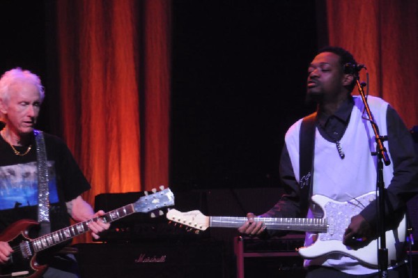
[[[29,230],[32,226],[38,225],[38,222],[30,219],[22,219],[8,226],[0,235],[0,241],[8,242],[10,247],[15,250],[10,261],[6,265],[1,265],[0,277],[40,277],[47,265],[38,265],[36,263],[36,254],[25,258],[21,252],[22,242],[29,242]],[[33,252],[33,251],[32,251]],[[10,275],[10,276],[8,276]]]

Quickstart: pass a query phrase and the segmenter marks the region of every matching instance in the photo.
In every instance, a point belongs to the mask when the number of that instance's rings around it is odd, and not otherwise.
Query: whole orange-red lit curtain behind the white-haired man
[[[92,189],[168,183],[167,0],[56,1],[63,138]]]

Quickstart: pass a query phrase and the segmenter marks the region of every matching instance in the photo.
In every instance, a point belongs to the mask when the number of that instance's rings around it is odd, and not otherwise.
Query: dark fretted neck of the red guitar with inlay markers
[[[68,226],[64,229],[48,233],[47,235],[42,235],[39,238],[33,239],[31,241],[31,245],[33,247],[34,252],[40,252],[54,245],[58,245],[61,242],[70,240],[71,238],[74,238],[77,235],[82,235],[83,233],[90,231],[90,229],[88,228],[88,224],[90,224],[91,222],[96,222],[98,221],[98,219],[102,219],[102,221],[110,223],[118,219],[121,219],[127,215],[131,215],[132,213],[135,213],[135,210],[134,205],[130,203],[129,205],[123,206],[122,208],[112,210],[103,216],[88,219],[87,221],[79,222],[72,226]]]

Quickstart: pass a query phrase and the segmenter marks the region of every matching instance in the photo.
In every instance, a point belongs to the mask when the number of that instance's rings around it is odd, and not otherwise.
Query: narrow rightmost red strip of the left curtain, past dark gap
[[[145,1],[144,188],[169,180],[169,1]]]

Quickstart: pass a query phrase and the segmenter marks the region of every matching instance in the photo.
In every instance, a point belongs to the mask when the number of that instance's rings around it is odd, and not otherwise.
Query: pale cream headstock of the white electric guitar
[[[199,210],[188,211],[182,213],[178,210],[169,210],[166,215],[167,219],[172,222],[180,223],[192,229],[205,231],[209,227],[209,217],[203,215]]]

